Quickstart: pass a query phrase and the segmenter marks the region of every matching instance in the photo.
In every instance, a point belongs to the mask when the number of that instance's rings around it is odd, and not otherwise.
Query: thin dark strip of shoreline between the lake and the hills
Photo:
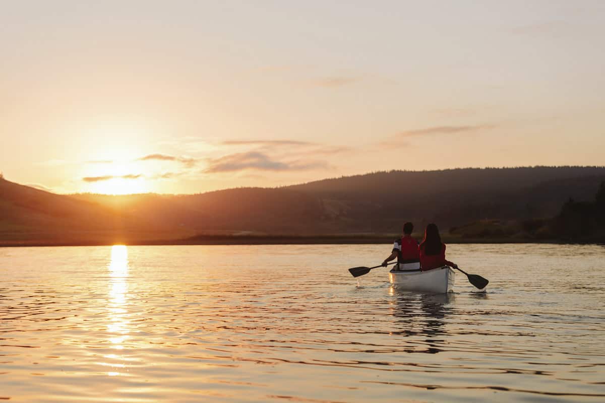
[[[137,240],[115,237],[113,239],[96,239],[80,241],[54,240],[4,240],[0,247],[91,247],[110,245],[160,246],[160,245],[347,245],[347,244],[388,244],[397,235],[212,235],[196,236],[186,239]],[[555,243],[555,244],[603,244],[594,240],[560,240],[531,238],[496,238],[496,237],[454,237],[443,236],[444,243]]]

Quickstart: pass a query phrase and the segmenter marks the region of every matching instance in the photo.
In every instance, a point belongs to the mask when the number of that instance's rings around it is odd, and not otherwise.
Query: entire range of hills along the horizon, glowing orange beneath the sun
[[[0,179],[0,241],[393,234],[405,221],[417,229],[436,222],[446,232],[477,228],[471,222],[552,218],[569,198],[591,201],[604,180],[605,167],[395,170],[273,189],[108,196],[54,195]],[[506,224],[503,233],[520,227]]]

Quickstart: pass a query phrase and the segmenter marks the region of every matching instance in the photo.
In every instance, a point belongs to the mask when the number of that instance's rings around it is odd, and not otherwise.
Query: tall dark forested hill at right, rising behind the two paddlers
[[[368,173],[287,189],[321,199],[340,228],[398,232],[404,221],[449,228],[552,217],[570,197],[592,198],[603,179],[605,167],[468,168]]]

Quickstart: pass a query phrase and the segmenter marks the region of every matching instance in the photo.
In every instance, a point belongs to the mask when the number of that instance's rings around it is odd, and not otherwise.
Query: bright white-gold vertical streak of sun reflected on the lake
[[[114,245],[111,247],[111,261],[109,270],[109,318],[107,323],[107,332],[111,348],[122,350],[123,344],[128,339],[129,324],[128,311],[126,303],[128,302],[128,249],[125,245]],[[114,361],[120,359],[120,356],[108,354],[106,359]],[[103,363],[103,365],[114,368],[123,368],[123,363]],[[119,372],[108,372],[108,375],[120,375]]]

